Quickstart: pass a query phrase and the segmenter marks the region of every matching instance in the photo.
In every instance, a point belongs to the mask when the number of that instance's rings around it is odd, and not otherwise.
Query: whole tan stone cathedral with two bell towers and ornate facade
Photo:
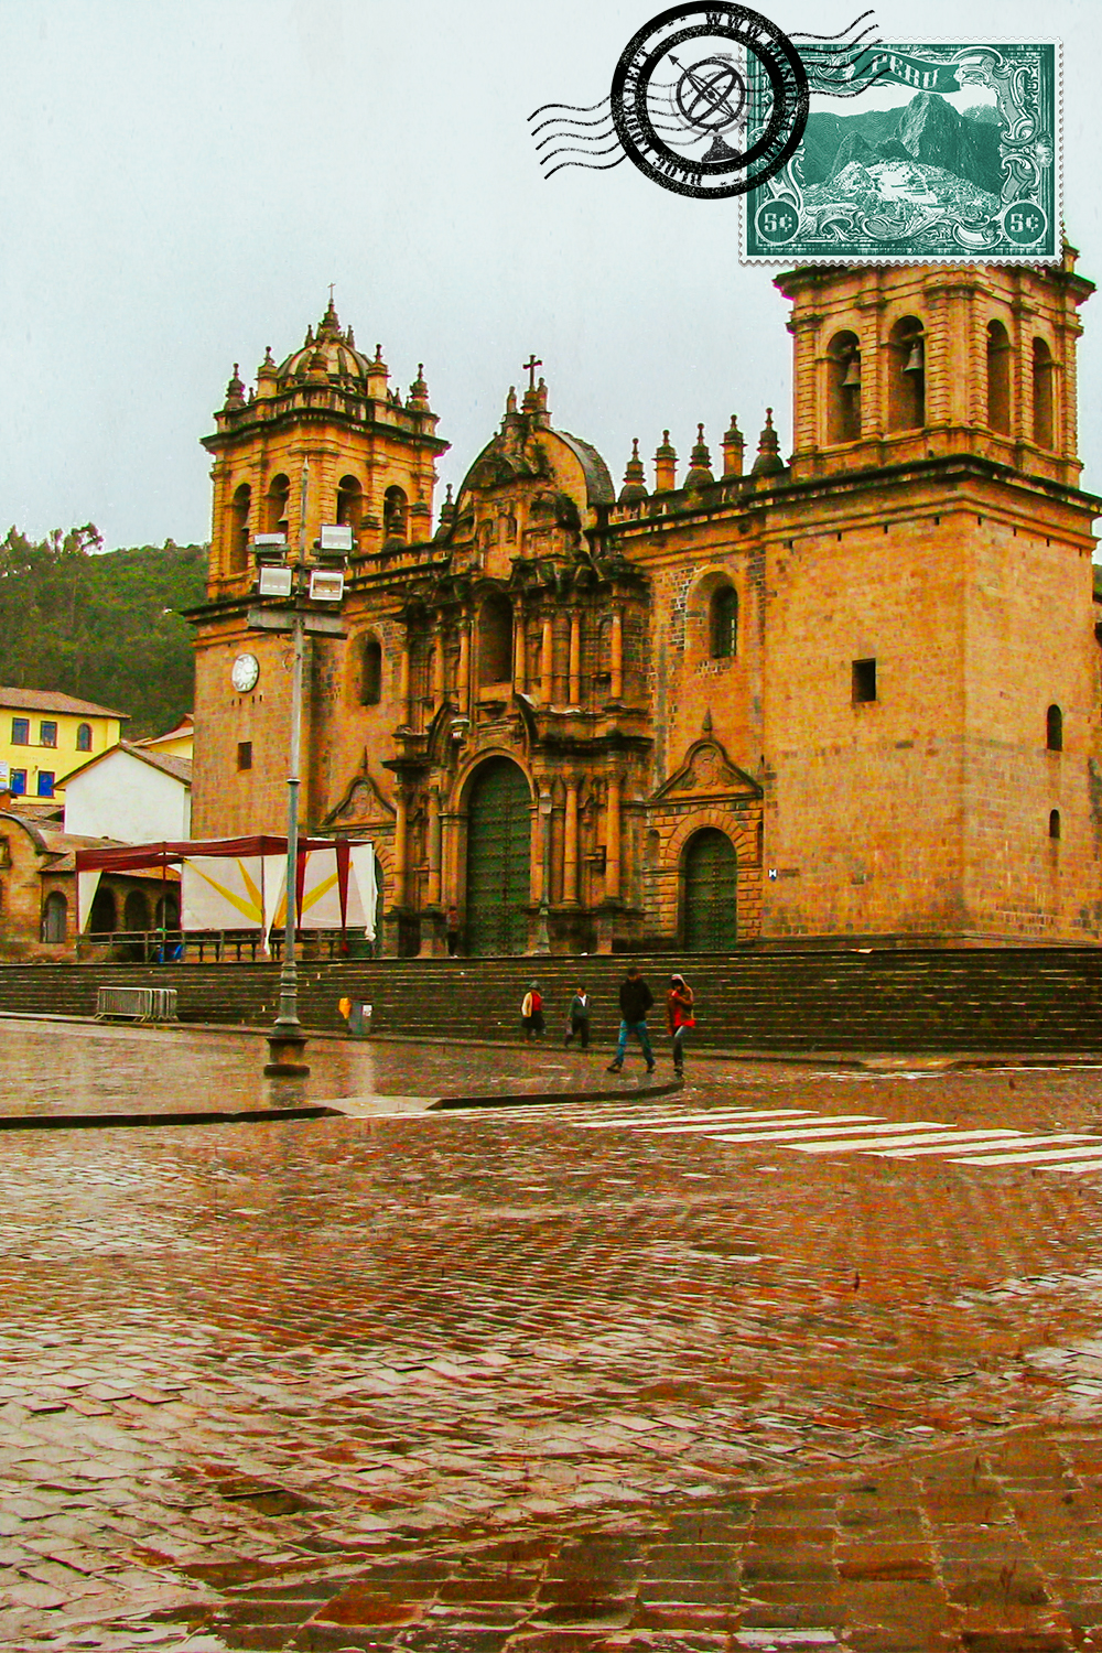
[[[537,362],[439,506],[421,370],[403,398],[332,301],[253,390],[235,369],[193,835],[284,831],[287,640],[248,628],[253,541],[347,524],[302,826],[375,845],[383,952],[441,954],[448,909],[474,955],[1097,941],[1094,288],[1071,248],[777,284],[791,456],[772,413],[748,455],[732,417],[682,471],[669,431],[649,474],[636,443],[620,488]]]

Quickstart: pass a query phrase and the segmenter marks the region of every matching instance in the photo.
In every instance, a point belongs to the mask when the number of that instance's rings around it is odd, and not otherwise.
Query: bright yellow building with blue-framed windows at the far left
[[[68,774],[117,744],[127,719],[51,689],[0,688],[0,792],[55,797]]]

